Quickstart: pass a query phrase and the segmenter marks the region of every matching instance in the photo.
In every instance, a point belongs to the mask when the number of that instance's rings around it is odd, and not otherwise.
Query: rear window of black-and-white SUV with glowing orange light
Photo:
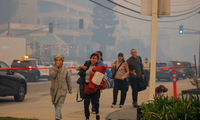
[[[12,62],[12,67],[27,67],[27,66],[33,66],[35,61],[30,60],[14,60]]]

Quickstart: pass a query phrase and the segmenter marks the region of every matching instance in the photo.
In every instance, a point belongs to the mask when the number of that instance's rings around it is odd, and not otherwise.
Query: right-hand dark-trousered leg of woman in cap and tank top
[[[126,79],[121,80],[120,82],[121,82],[120,85],[122,85],[122,89],[121,89],[121,100],[119,105],[124,105],[124,102],[126,100],[128,82]]]

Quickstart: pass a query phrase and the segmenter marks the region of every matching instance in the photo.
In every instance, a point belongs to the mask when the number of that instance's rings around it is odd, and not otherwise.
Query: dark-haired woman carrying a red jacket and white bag
[[[84,70],[83,75],[84,75],[84,81],[86,85],[89,85],[89,77],[91,74],[94,74],[94,71],[92,71],[92,68],[95,68],[98,63],[99,56],[96,53],[93,53],[90,56],[90,61],[86,61],[84,65],[78,66],[76,70]],[[88,66],[88,67],[86,67]],[[89,105],[90,105],[90,100],[94,104],[95,107],[95,113],[96,113],[96,120],[100,120],[99,116],[99,98],[100,98],[100,90],[97,89],[95,93],[92,94],[85,94],[84,98],[84,112],[85,112],[85,117],[86,120],[89,120],[90,117],[90,112],[89,112]]]

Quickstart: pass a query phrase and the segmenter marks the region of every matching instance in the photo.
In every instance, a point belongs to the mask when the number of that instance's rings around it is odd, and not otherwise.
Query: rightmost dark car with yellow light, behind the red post
[[[194,77],[195,70],[191,68],[191,63],[187,61],[171,61],[174,66],[184,66],[188,68],[178,68],[179,77],[186,79]],[[189,68],[190,67],[190,68]]]

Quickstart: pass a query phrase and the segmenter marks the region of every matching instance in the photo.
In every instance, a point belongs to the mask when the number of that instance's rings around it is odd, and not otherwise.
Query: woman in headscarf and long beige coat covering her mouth
[[[72,93],[71,75],[67,67],[63,66],[64,56],[54,56],[55,66],[50,69],[51,80],[51,101],[55,107],[55,120],[62,118],[62,104],[64,104],[67,90]]]

